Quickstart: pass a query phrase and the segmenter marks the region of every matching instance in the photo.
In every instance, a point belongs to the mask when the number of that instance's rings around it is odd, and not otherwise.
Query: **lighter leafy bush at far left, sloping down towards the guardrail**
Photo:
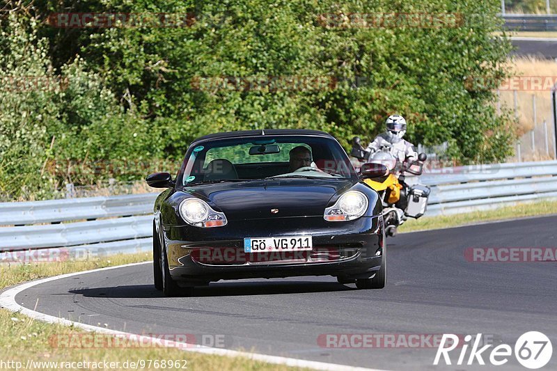
[[[55,74],[48,40],[37,38],[33,19],[11,16],[5,22],[0,29],[3,198],[49,198],[63,182],[93,184],[111,176],[93,166],[106,168],[113,161],[126,161],[122,178],[136,177],[144,167],[138,160],[150,157],[143,119],[125,112],[81,58]]]

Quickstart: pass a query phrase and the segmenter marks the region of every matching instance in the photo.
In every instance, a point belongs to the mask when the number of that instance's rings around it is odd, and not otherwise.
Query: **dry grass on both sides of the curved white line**
[[[123,265],[131,262],[149,261],[151,259],[151,254],[141,253],[113,255],[109,258],[97,260],[0,267],[0,290],[11,285],[16,285],[17,283],[38,278],[56,276],[58,274],[74,271]],[[57,344],[61,344],[61,342],[53,341],[54,339],[60,338],[77,338],[79,334],[84,333],[86,332],[80,329],[47,324],[20,315],[19,313],[12,313],[6,309],[0,309],[0,369],[15,369],[17,365],[19,365],[20,369],[25,368],[28,360],[31,360],[35,363],[30,365],[28,370],[60,370],[61,368],[81,370],[126,370],[126,361],[128,361],[128,370],[183,370],[185,367],[187,367],[187,370],[296,370],[296,368],[272,365],[241,357],[209,356],[194,352],[185,352],[180,349],[152,346],[101,346],[84,349],[83,347],[58,346]],[[97,335],[87,335],[87,338],[93,338],[95,341],[107,339],[107,336]],[[113,342],[109,341],[102,343],[113,344]],[[66,341],[65,344],[71,345],[72,342]],[[78,342],[78,344],[85,344],[85,342]],[[127,345],[134,345],[134,343],[127,342]],[[146,367],[131,367],[130,362],[138,363],[141,360],[146,363]],[[149,360],[152,361],[150,367],[148,367]],[[158,361],[157,364],[155,364],[155,360]],[[166,367],[162,366],[162,361],[166,361]],[[170,362],[168,361],[173,361],[173,366],[178,363],[178,367],[170,367]],[[56,365],[54,362],[58,362],[58,364]],[[76,363],[73,365],[71,363],[62,365],[62,362]],[[89,363],[82,364],[81,367],[79,367],[80,365],[78,365],[77,362]],[[110,364],[111,362],[113,362],[112,365]],[[116,365],[116,362],[119,362],[119,364]]]

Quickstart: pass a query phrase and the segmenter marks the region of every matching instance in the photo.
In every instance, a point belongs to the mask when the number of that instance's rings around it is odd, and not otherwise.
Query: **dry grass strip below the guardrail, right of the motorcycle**
[[[549,214],[557,214],[557,201],[524,203],[521,205],[500,207],[498,209],[481,212],[469,212],[466,214],[423,216],[420,219],[409,219],[406,223],[400,226],[399,232],[450,228],[471,225],[483,221],[499,221]],[[427,212],[425,215],[427,215]]]

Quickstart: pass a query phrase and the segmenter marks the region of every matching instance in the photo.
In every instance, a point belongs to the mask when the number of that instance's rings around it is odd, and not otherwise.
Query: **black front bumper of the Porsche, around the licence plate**
[[[368,278],[382,264],[381,218],[363,216],[347,222],[275,218],[221,228],[164,226],[163,231],[171,276],[182,283],[322,275]],[[244,237],[296,235],[311,235],[313,251],[244,253]]]

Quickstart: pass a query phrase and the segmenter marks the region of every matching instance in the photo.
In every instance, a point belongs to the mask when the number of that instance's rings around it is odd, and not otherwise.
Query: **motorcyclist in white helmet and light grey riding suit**
[[[368,158],[382,147],[391,148],[389,152],[395,156],[402,164],[405,161],[414,161],[418,158],[418,153],[414,145],[405,139],[406,120],[400,115],[391,115],[385,122],[386,132],[379,134],[368,145],[366,152]]]

